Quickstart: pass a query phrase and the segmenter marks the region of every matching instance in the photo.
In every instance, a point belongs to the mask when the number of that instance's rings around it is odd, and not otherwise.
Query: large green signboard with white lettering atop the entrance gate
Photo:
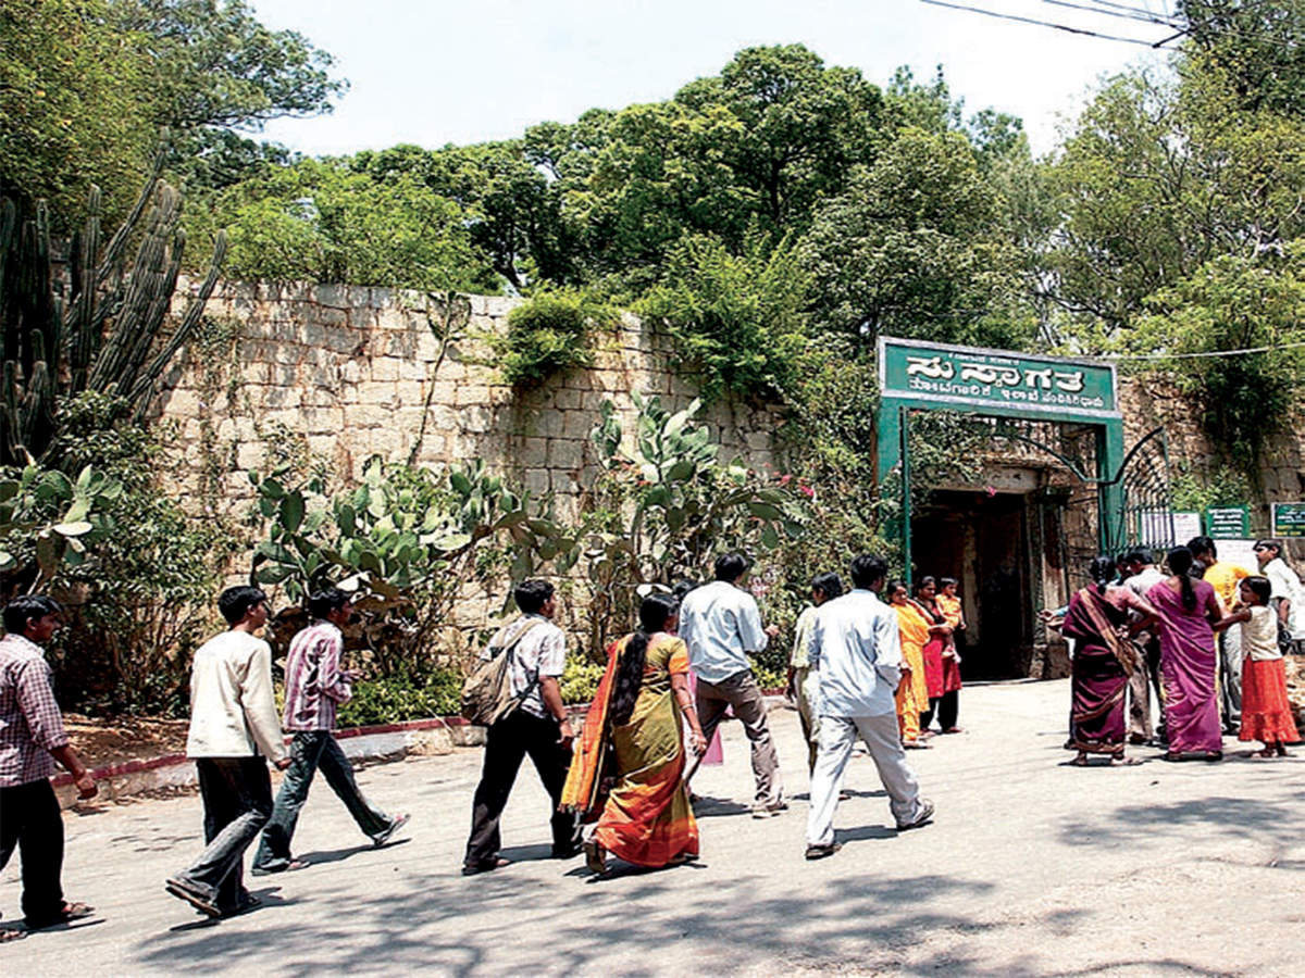
[[[976,411],[1118,417],[1114,366],[919,340],[880,339],[885,398],[928,400]]]

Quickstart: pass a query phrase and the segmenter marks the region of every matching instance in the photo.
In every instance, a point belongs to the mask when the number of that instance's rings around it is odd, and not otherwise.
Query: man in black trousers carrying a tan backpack
[[[463,715],[489,722],[462,863],[467,876],[508,865],[499,855],[499,819],[527,754],[552,799],[553,858],[579,853],[576,819],[557,808],[574,739],[557,685],[566,665],[566,636],[552,623],[557,597],[545,580],[522,582],[513,597],[521,617],[489,640],[480,657],[491,668],[482,665],[463,689]]]

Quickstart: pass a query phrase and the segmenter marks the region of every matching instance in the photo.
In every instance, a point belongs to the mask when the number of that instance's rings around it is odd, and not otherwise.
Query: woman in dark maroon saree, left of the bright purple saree
[[[1135,764],[1124,756],[1124,691],[1135,668],[1131,630],[1154,619],[1155,609],[1128,588],[1108,587],[1114,561],[1098,557],[1088,567],[1092,584],[1069,601],[1061,631],[1075,639],[1071,661],[1073,763],[1087,765],[1088,754],[1107,754],[1112,764]]]

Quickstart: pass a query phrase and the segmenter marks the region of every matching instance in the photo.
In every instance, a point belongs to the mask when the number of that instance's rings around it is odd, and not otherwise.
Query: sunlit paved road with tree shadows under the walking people
[[[200,838],[193,797],[68,816],[65,884],[99,915],[0,947],[5,974],[1255,974],[1302,961],[1305,747],[1283,762],[1082,771],[1061,750],[1065,682],[967,689],[968,733],[915,751],[936,823],[891,832],[873,764],[850,767],[844,849],[803,859],[806,775],[796,716],[774,713],[792,808],[749,818],[737,724],[696,782],[702,861],[594,882],[547,857],[529,769],[500,872],[458,874],[479,751],[367,769],[412,812],[381,850],[315,786],[296,838],[313,866],[253,879],[265,906],[211,923],[163,892]],[[17,859],[0,909],[17,913]]]

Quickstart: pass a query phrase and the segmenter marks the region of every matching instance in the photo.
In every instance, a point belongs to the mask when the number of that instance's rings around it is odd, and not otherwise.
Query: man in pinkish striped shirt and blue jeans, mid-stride
[[[348,703],[352,696],[350,679],[355,678],[339,668],[345,647],[341,626],[347,625],[354,614],[348,595],[339,588],[318,591],[308,599],[308,614],[313,618],[312,623],[295,635],[286,657],[282,725],[294,734],[294,739],[290,768],[253,858],[257,875],[298,870],[307,865],[291,857],[290,840],[318,768],[373,845],[384,845],[408,820],[407,815],[386,815],[363,797],[354,780],[354,768],[333,734],[335,709]]]

